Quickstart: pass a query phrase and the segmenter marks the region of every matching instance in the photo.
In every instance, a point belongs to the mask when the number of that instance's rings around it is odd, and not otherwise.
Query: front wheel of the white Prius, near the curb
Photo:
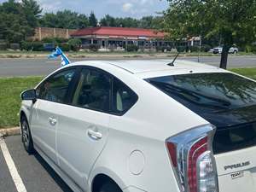
[[[33,141],[31,136],[31,131],[29,125],[27,123],[27,119],[25,116],[20,119],[20,129],[21,129],[21,141],[23,146],[28,154],[33,154]]]

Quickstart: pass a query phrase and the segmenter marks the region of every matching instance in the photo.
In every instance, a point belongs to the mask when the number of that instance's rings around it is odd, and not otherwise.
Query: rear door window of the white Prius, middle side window
[[[73,96],[73,105],[96,111],[109,111],[111,80],[106,73],[83,69]]]

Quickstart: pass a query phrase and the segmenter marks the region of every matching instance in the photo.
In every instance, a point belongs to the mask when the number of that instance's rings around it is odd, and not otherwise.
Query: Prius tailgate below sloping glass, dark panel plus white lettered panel
[[[206,119],[217,126],[213,151],[219,192],[256,192],[256,107],[208,114]]]

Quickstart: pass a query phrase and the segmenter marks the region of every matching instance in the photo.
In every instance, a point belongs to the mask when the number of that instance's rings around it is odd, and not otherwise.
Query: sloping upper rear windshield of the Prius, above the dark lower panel
[[[198,113],[256,104],[256,83],[232,73],[172,75],[148,82]]]

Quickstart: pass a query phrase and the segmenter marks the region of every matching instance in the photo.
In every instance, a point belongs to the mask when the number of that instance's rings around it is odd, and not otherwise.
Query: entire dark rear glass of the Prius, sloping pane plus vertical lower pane
[[[147,79],[217,126],[215,154],[256,145],[256,83],[232,73],[189,73]]]

